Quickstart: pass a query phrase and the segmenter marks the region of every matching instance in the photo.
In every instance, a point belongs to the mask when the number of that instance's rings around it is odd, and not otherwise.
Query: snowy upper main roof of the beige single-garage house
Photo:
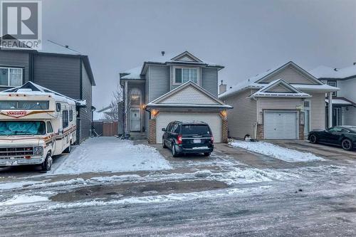
[[[266,88],[266,86],[268,86],[268,84],[263,83],[263,80],[270,75],[280,72],[281,70],[288,67],[289,65],[293,65],[293,67],[297,68],[301,73],[304,73],[305,75],[308,76],[308,78],[310,78],[310,80],[313,80],[315,82],[315,84],[290,84],[290,83],[288,83],[288,84],[292,85],[293,88],[296,88],[298,90],[320,90],[320,91],[325,91],[325,93],[329,92],[329,91],[332,92],[332,91],[339,90],[338,88],[334,88],[330,85],[323,84],[320,80],[315,78],[313,75],[308,73],[306,70],[304,70],[303,68],[300,68],[300,66],[296,65],[292,61],[289,61],[288,63],[278,65],[276,68],[266,70],[266,72],[255,75],[252,78],[248,78],[248,80],[244,80],[241,83],[234,85],[231,89],[226,90],[225,93],[221,93],[221,95],[219,95],[219,98],[220,99],[227,98],[229,95],[234,95],[236,93],[239,93],[242,90],[247,90],[247,89],[260,90],[262,88]],[[283,79],[283,78],[280,78],[280,79]]]

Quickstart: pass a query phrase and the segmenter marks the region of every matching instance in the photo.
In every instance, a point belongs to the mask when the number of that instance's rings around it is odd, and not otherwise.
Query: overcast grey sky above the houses
[[[87,54],[108,105],[118,73],[190,51],[228,85],[293,60],[309,70],[356,62],[356,0],[43,0],[43,40]]]

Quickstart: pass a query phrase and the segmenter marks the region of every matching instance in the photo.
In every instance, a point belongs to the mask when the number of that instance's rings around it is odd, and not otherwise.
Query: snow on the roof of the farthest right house
[[[315,78],[349,78],[356,76],[356,65],[351,65],[347,68],[330,68],[325,65],[320,65],[318,68],[314,68],[309,71],[310,74],[314,75]]]

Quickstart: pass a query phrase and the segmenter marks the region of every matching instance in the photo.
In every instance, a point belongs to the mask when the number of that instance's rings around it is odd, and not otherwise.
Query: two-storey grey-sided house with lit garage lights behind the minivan
[[[174,120],[207,122],[215,142],[227,141],[226,109],[218,98],[221,65],[207,63],[185,51],[147,60],[120,73],[124,90],[125,132],[162,143],[162,128]]]

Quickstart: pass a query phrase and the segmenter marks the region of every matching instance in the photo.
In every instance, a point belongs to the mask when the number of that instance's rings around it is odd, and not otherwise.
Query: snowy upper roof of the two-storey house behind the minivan
[[[206,67],[214,67],[214,68],[224,68],[224,66],[211,63],[206,60],[202,60],[197,58],[192,53],[188,51],[184,51],[183,53],[179,54],[164,54],[164,56],[158,58],[151,58],[144,61],[142,66],[138,66],[136,68],[132,68],[130,70],[126,70],[122,74],[120,79],[136,79],[142,80],[142,75],[145,74],[145,66],[147,64],[160,64],[160,65],[169,65],[169,64],[181,64],[181,65],[204,65]]]

